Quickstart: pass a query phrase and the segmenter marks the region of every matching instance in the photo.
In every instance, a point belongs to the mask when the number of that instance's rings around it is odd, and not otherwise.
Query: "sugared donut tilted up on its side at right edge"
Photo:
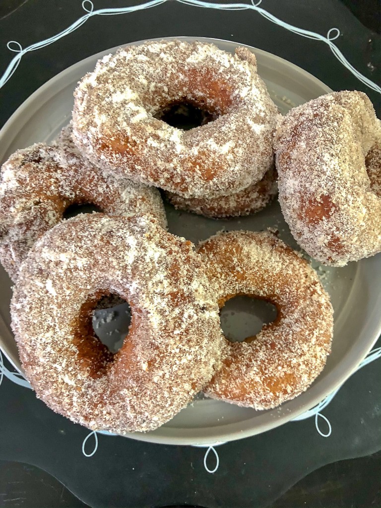
[[[381,123],[365,93],[291,110],[276,133],[279,202],[314,259],[344,266],[381,251]]]

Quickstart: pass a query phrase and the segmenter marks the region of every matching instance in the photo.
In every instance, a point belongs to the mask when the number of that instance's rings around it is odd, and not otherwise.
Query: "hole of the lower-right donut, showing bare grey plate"
[[[275,321],[278,311],[267,300],[240,295],[229,299],[219,315],[225,337],[231,342],[243,342],[257,335],[263,325]]]

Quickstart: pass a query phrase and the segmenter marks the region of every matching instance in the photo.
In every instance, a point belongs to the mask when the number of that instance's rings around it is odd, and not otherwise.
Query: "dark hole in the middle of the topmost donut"
[[[176,129],[190,131],[190,129],[195,129],[216,120],[219,115],[209,111],[201,104],[182,99],[181,101],[170,102],[153,116]]]

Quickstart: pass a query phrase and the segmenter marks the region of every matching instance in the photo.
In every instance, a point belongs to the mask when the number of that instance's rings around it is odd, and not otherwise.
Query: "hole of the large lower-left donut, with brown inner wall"
[[[99,292],[85,302],[75,325],[78,360],[93,378],[102,377],[129,334],[132,312],[120,295]]]

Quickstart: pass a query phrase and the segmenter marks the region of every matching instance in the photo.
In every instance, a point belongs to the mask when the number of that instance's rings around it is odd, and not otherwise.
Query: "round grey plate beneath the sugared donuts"
[[[182,39],[213,42],[221,49],[231,52],[234,52],[237,46],[233,42],[214,39]],[[0,133],[0,160],[4,161],[18,148],[38,141],[53,140],[70,119],[73,90],[78,80],[94,68],[99,58],[116,49],[102,51],[76,63],[33,93],[12,115]],[[260,49],[250,49],[257,55],[259,74],[267,83],[270,94],[282,113],[292,106],[330,91],[324,83],[292,63]],[[285,242],[297,247],[277,202],[257,215],[230,220],[213,220],[178,213],[169,206],[167,212],[169,230],[194,242],[221,229],[257,231],[275,226]],[[359,263],[351,263],[344,268],[326,268],[316,264],[314,266],[318,273],[323,274],[322,281],[331,296],[335,310],[335,329],[332,354],[327,365],[305,393],[268,411],[255,411],[224,402],[197,399],[163,427],[146,434],[132,433],[131,437],[167,444],[207,444],[239,439],[292,420],[341,385],[370,350],[381,331],[381,257],[378,255]],[[21,370],[16,343],[10,329],[11,286],[2,268],[0,283],[3,288],[0,298],[0,346],[12,364]],[[244,329],[252,322],[250,312],[244,306],[235,309],[232,307],[232,312],[235,315],[225,315],[224,321],[230,321],[232,329],[239,328],[244,333]]]

